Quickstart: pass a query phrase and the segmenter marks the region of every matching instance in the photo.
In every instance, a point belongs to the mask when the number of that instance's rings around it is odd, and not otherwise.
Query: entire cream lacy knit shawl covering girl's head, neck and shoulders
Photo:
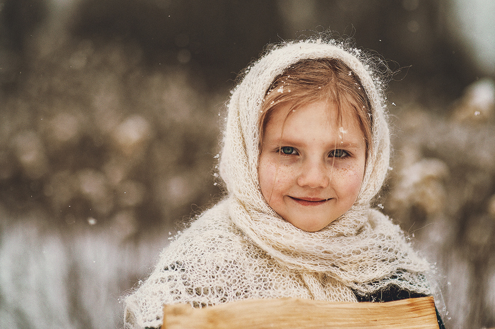
[[[260,110],[274,79],[301,59],[338,58],[359,78],[372,107],[371,152],[356,203],[318,232],[282,219],[258,181]],[[158,328],[163,304],[204,307],[247,298],[357,301],[396,286],[431,294],[429,264],[400,228],[370,203],[389,170],[390,136],[382,84],[359,50],[334,41],[273,47],[233,90],[220,154],[228,196],[200,215],[160,254],[145,283],[125,299],[126,328]]]

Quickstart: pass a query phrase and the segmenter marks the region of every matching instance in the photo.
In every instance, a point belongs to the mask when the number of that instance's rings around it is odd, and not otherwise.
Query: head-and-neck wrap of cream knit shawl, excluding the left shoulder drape
[[[340,59],[359,78],[371,103],[372,147],[356,203],[323,230],[304,232],[275,213],[261,194],[258,122],[265,93],[274,79],[300,60],[317,58]],[[428,265],[411,250],[390,219],[370,208],[389,170],[390,136],[381,87],[358,49],[321,40],[274,47],[247,68],[232,93],[220,175],[229,192],[233,222],[285,266],[305,273],[326,273],[363,294],[384,280],[425,292],[424,278],[416,274]],[[411,276],[416,277],[413,282]]]

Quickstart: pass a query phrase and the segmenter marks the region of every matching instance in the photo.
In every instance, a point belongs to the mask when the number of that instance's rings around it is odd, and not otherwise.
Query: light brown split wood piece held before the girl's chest
[[[433,297],[386,303],[339,303],[299,298],[250,299],[201,309],[165,305],[162,329],[399,328],[438,329]]]

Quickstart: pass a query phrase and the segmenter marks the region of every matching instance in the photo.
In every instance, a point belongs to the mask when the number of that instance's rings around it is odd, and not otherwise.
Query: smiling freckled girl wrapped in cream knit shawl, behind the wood
[[[432,293],[428,263],[370,207],[390,149],[374,73],[359,50],[320,39],[274,46],[247,68],[220,155],[227,195],[126,298],[126,328],[158,328],[163,304]]]

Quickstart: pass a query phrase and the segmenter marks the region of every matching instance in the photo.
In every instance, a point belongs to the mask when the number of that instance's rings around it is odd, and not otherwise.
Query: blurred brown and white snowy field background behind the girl
[[[380,53],[377,206],[436,265],[447,328],[495,327],[495,2],[0,0],[0,327],[120,328],[128,292],[222,196],[220,126],[265,45]]]

